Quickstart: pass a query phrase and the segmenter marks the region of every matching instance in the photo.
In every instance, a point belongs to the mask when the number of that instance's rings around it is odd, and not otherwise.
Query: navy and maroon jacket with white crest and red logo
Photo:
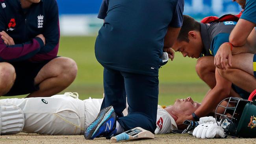
[[[0,62],[53,59],[59,48],[59,13],[56,0],[41,0],[22,9],[19,0],[0,0],[0,31],[13,38],[7,46],[0,37]],[[43,34],[43,41],[36,37]]]

